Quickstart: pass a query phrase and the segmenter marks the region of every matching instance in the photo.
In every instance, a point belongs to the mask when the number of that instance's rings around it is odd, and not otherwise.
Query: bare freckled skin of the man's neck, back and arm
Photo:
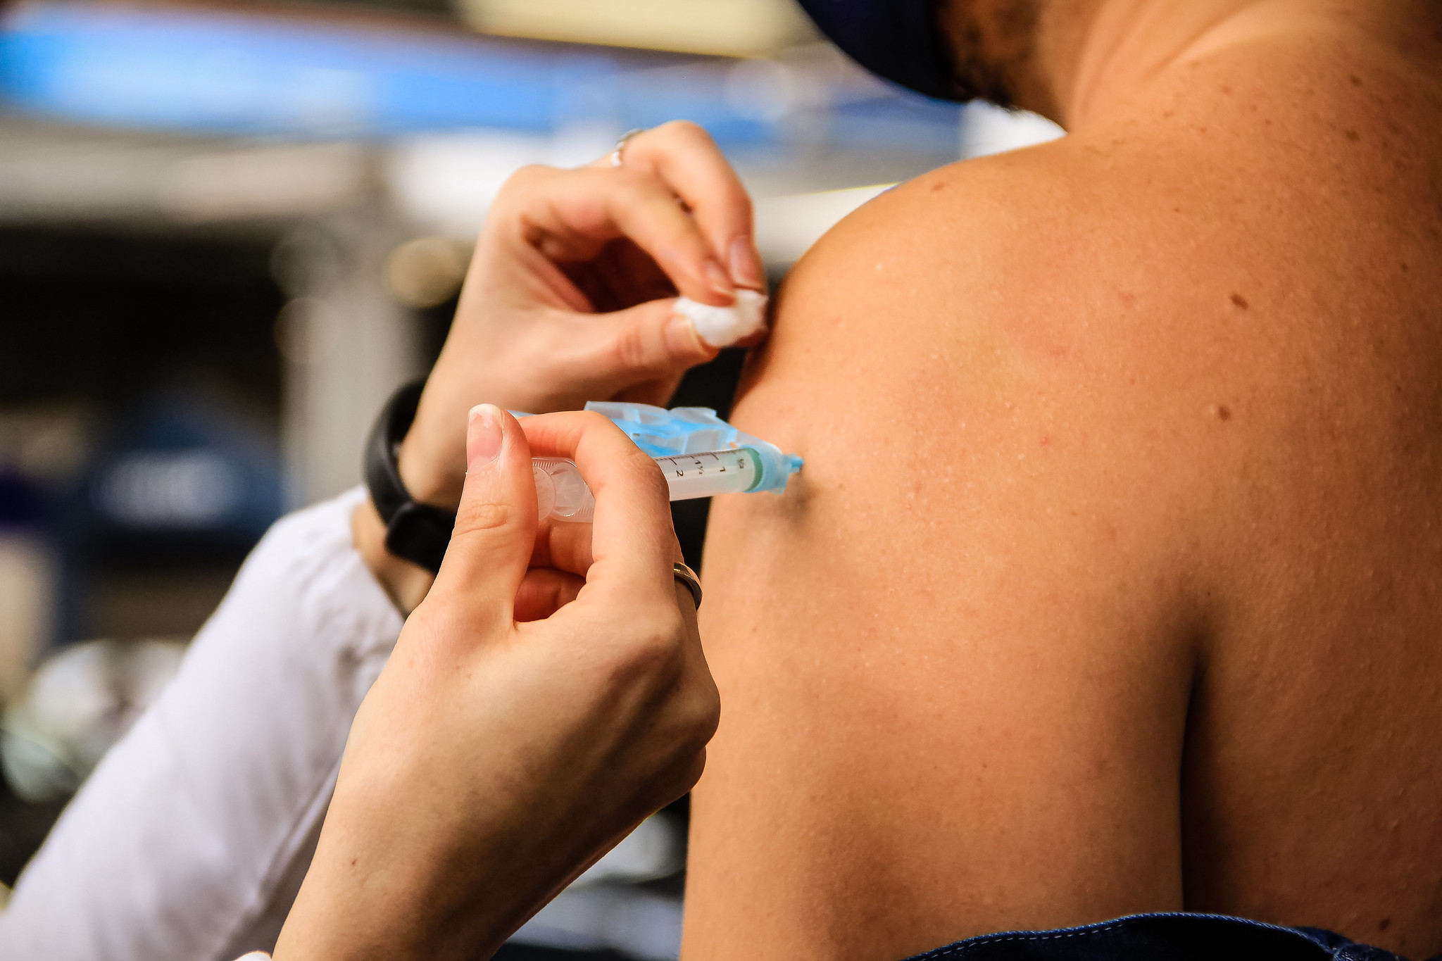
[[[684,954],[1442,951],[1442,14],[1037,23],[1070,134],[861,207],[751,360],[806,467],[712,507]]]

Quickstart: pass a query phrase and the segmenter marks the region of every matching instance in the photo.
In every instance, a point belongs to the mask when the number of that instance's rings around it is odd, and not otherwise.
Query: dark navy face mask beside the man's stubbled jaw
[[[934,0],[799,0],[857,63],[927,97],[962,99],[933,20]]]

